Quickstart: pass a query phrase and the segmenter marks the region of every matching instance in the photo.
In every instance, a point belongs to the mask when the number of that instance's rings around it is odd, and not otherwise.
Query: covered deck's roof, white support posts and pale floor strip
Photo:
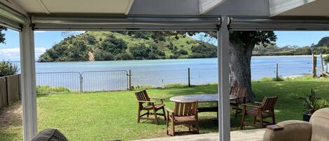
[[[229,30],[328,30],[326,6],[327,0],[1,0],[0,25],[20,32],[24,140],[38,133],[35,30],[217,32],[219,133],[175,140],[260,140],[263,130],[234,131],[230,136]],[[174,138],[162,138],[167,139]]]

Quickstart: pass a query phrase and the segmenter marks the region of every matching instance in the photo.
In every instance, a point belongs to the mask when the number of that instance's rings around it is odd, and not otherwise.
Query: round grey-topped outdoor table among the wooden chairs
[[[229,100],[236,99],[236,96],[229,95]],[[201,94],[201,95],[180,95],[169,99],[173,102],[217,102],[217,107],[198,107],[198,112],[218,112],[218,94]],[[217,114],[218,116],[218,114]]]

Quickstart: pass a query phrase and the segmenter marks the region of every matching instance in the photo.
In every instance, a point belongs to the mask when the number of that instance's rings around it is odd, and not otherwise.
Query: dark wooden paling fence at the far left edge
[[[0,109],[20,99],[20,74],[0,77]]]

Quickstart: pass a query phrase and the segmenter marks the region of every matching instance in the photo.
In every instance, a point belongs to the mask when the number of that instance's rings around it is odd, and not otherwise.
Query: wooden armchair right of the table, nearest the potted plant
[[[274,115],[274,105],[278,100],[277,96],[265,97],[262,102],[255,102],[257,105],[243,105],[242,119],[241,119],[241,129],[243,126],[254,126],[256,128],[265,128],[267,125],[275,124]],[[247,108],[251,107],[251,108]],[[253,116],[253,123],[248,123],[245,121],[246,115]],[[272,122],[264,121],[266,118],[272,118]],[[256,123],[257,118],[259,119],[259,124]],[[265,123],[265,124],[264,124]]]

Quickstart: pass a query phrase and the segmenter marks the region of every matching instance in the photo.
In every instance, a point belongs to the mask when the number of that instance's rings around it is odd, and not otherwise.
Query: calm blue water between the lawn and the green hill
[[[19,65],[19,62],[16,62]],[[276,74],[276,63],[278,73],[281,76],[292,76],[311,73],[310,56],[271,56],[252,58],[252,79],[260,79],[264,76],[274,77]],[[318,58],[318,66],[320,66]],[[206,59],[180,59],[180,60],[132,60],[132,61],[105,61],[105,62],[37,62],[36,72],[88,72],[88,71],[109,71],[109,70],[131,70],[133,86],[149,85],[163,86],[168,83],[187,83],[187,68],[191,70],[191,83],[216,83],[217,82],[217,58]],[[86,90],[93,90],[98,86],[105,90],[114,85],[125,89],[127,86],[126,72],[121,74],[95,74],[83,78],[83,87]],[[39,84],[48,83],[51,86],[67,86],[72,89],[79,89],[79,75],[73,76],[46,76],[37,74],[36,81]],[[87,75],[87,74],[83,74]],[[118,76],[120,75],[120,76]],[[47,77],[45,79],[45,77]],[[50,79],[51,82],[48,82]],[[123,80],[125,79],[125,80]],[[42,81],[42,83],[41,83]],[[109,84],[112,81],[111,84]],[[55,84],[53,84],[55,83]],[[96,83],[96,86],[88,86],[88,83]],[[119,84],[118,84],[119,83]],[[70,86],[72,85],[72,86]],[[88,88],[90,87],[90,88]]]

